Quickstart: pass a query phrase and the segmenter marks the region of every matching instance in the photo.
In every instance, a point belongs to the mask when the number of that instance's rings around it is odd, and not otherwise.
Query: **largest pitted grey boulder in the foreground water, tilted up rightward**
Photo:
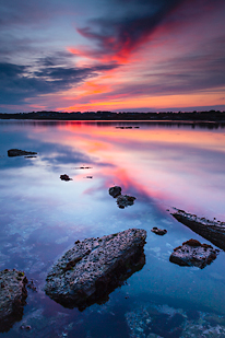
[[[129,229],[100,238],[76,241],[52,267],[45,291],[66,307],[86,306],[108,294],[145,264],[145,230]]]

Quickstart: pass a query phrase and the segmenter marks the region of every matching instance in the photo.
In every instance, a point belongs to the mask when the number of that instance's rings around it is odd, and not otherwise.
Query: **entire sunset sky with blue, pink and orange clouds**
[[[0,112],[225,110],[224,0],[1,0]]]

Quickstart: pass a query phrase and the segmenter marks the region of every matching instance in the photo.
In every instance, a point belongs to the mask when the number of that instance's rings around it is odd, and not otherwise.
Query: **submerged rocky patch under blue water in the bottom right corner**
[[[225,337],[225,318],[218,314],[145,302],[133,306],[125,316],[130,338]]]

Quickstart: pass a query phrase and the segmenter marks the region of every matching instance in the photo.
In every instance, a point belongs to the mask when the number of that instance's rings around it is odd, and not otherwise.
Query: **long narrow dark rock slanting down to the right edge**
[[[171,215],[180,223],[225,250],[225,222],[210,221],[178,209],[175,209]]]

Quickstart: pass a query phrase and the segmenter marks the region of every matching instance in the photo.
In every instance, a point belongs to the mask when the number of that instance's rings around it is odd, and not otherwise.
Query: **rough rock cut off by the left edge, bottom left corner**
[[[0,333],[8,331],[22,319],[27,296],[27,279],[16,270],[0,271]]]

